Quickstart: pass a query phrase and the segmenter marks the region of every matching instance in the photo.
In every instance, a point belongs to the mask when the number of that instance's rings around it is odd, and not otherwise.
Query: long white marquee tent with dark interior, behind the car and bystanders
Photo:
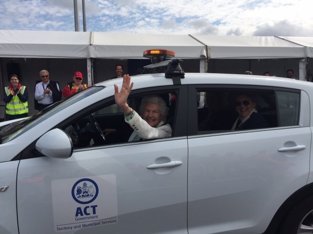
[[[293,62],[299,63],[300,79],[304,79],[306,61],[313,58],[313,37],[0,30],[0,88],[7,84],[4,77],[9,75],[9,63],[20,65],[23,82],[30,87],[45,67],[60,84],[67,82],[72,69],[87,72],[88,83],[93,84],[94,74],[103,77],[93,59],[101,59],[100,66],[107,66],[103,64],[117,59],[142,59],[147,49],[169,49],[177,58],[198,60],[193,64],[196,69],[200,64],[199,72],[207,72],[208,59],[299,59]]]

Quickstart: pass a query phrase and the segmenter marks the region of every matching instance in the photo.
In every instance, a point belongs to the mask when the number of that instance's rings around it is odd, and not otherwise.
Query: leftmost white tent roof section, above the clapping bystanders
[[[0,57],[89,58],[90,32],[0,30]]]

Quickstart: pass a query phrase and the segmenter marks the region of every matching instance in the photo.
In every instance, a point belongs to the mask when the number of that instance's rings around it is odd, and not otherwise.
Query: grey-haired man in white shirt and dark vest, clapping
[[[39,75],[41,82],[35,86],[35,109],[41,111],[52,103],[61,100],[62,92],[59,83],[49,79],[47,70],[41,70]]]

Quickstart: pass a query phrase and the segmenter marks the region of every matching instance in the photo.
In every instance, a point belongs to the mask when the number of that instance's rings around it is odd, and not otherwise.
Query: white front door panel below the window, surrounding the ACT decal
[[[162,157],[181,161],[182,165],[146,169],[158,160],[164,161]],[[74,152],[69,159],[22,160],[17,182],[20,234],[55,233],[51,202],[53,180],[108,174],[116,175],[118,223],[93,228],[93,234],[146,234],[151,230],[187,234],[186,139],[82,150]],[[24,189],[34,192],[25,196]],[[64,196],[68,194],[64,192]],[[64,212],[73,213],[66,207]],[[67,233],[86,232],[90,230]]]

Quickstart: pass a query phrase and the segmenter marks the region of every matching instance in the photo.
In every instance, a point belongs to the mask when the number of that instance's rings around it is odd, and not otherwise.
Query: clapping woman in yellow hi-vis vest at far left
[[[28,90],[19,81],[18,76],[13,74],[10,78],[11,84],[4,88],[6,120],[28,117]]]

